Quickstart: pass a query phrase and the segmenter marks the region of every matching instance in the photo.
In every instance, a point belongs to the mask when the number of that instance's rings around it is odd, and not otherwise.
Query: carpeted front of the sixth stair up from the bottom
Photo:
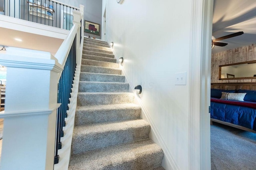
[[[124,75],[102,74],[102,73],[80,73],[80,81],[113,82],[124,83]]]

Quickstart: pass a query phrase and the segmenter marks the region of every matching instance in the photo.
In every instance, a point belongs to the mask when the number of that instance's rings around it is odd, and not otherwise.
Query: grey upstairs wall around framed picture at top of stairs
[[[78,8],[79,8],[79,5],[83,5],[84,20],[95,22],[101,25],[102,0],[58,0],[58,1],[63,2],[65,4],[70,4]],[[84,36],[88,36],[88,33],[84,32]],[[90,34],[90,36],[101,39],[101,33],[100,33],[100,36],[95,34]]]

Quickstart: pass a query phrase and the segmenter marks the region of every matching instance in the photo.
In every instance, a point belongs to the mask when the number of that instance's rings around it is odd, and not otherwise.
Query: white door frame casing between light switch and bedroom
[[[189,169],[210,170],[210,71],[213,0],[192,0]]]

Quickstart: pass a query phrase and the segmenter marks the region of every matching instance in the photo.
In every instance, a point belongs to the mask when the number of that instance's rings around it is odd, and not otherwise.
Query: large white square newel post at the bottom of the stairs
[[[62,66],[50,53],[9,47],[0,170],[52,170],[57,85]]]

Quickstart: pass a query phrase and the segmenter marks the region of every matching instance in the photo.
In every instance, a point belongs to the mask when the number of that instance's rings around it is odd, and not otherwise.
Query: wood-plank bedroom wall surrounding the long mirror
[[[211,83],[256,83],[256,79],[219,80],[219,65],[256,60],[256,44],[212,54]]]

